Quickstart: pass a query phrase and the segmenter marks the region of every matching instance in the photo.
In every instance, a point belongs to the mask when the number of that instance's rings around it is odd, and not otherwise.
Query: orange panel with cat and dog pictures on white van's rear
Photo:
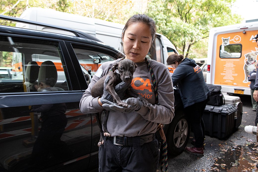
[[[214,84],[249,88],[247,77],[257,63],[256,34],[241,31],[217,36]]]

